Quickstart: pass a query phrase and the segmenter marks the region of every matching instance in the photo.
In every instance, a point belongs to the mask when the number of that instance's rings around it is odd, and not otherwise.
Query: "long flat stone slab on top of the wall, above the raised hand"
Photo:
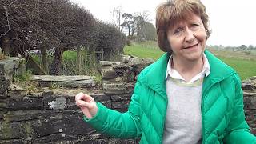
[[[93,76],[56,76],[56,75],[33,75],[31,80],[38,82],[39,86],[60,86],[68,88],[91,88],[97,85]]]

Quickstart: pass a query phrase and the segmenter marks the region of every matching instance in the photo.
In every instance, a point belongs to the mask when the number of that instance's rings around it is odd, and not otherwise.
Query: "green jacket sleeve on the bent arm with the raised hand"
[[[138,103],[138,93],[140,86],[137,82],[132,95],[129,110],[126,113],[120,113],[111,110],[97,102],[98,112],[94,118],[86,118],[84,121],[93,126],[95,130],[107,134],[113,138],[138,138],[141,135],[139,126],[140,106]]]

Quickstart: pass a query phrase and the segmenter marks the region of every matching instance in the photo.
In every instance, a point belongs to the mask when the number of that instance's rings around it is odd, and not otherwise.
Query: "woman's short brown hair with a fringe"
[[[162,51],[172,53],[170,43],[167,40],[167,30],[175,22],[186,18],[187,14],[190,13],[194,13],[201,18],[206,29],[207,38],[209,38],[208,15],[206,14],[206,7],[200,0],[170,0],[160,4],[156,13],[158,46]]]

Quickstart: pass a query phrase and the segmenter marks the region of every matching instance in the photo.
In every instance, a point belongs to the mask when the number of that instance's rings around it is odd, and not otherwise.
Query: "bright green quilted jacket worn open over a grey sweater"
[[[243,111],[238,74],[210,52],[210,75],[202,86],[202,143],[254,144]],[[147,66],[138,76],[126,113],[110,110],[97,102],[98,113],[84,120],[94,129],[114,138],[140,138],[140,143],[162,143],[166,119],[166,65],[170,54]],[[191,131],[193,133],[193,131]]]

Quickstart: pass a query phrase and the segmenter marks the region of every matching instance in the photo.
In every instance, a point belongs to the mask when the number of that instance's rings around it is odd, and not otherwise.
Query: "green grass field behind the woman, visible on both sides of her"
[[[134,55],[140,58],[153,58],[157,60],[163,52],[158,49],[156,42],[134,43],[133,46],[126,46],[125,54]],[[256,76],[256,54],[245,54],[233,51],[210,50],[223,62],[236,70],[242,80]]]

